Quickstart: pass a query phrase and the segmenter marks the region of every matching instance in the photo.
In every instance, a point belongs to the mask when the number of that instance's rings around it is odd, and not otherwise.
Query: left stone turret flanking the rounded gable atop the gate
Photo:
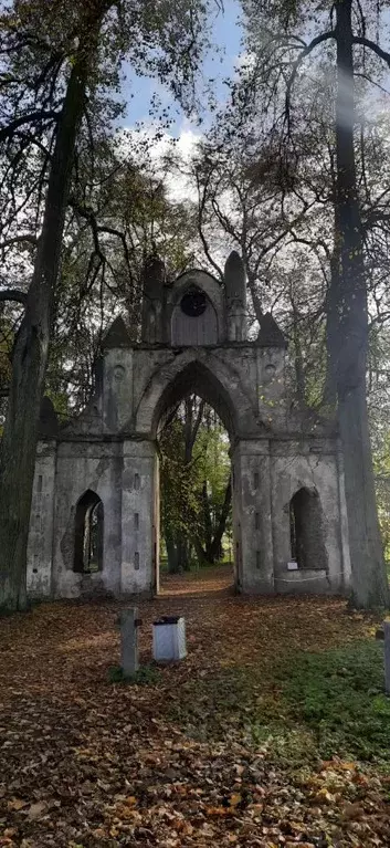
[[[155,345],[164,341],[164,284],[166,266],[156,254],[144,269],[143,342]]]

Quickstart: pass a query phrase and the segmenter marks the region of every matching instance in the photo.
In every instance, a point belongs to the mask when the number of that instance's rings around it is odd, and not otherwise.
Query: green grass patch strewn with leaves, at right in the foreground
[[[294,652],[266,672],[234,667],[189,681],[171,712],[191,736],[239,731],[286,765],[338,755],[390,766],[383,646],[372,639]]]

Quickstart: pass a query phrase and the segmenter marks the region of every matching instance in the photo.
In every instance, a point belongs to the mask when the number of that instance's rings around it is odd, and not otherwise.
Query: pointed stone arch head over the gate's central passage
[[[255,398],[242,388],[239,375],[218,356],[193,348],[152,374],[136,411],[136,431],[156,438],[164,412],[189,391],[215,409],[231,439],[259,431]]]

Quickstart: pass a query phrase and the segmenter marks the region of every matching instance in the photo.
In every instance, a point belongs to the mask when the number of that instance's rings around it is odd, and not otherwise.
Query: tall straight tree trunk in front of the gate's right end
[[[387,606],[388,583],[380,540],[369,440],[366,366],[367,289],[357,193],[354,125],[352,0],[336,2],[338,341],[334,349],[338,420],[342,442],[352,600],[366,609]]]

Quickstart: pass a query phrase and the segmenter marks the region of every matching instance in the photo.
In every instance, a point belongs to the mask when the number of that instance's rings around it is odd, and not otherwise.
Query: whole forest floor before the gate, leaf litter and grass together
[[[390,699],[372,617],[242,598],[226,568],[140,605],[143,669],[114,682],[119,603],[0,621],[0,846],[390,846]],[[156,668],[151,622],[186,617]]]

